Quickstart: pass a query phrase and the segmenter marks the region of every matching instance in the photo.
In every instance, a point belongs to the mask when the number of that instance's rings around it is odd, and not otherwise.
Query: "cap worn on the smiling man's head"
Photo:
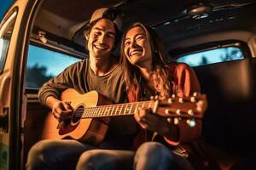
[[[122,16],[118,14],[116,8],[98,8],[94,11],[90,18],[90,24],[93,21],[107,18],[113,21],[113,24],[121,31],[122,28]]]

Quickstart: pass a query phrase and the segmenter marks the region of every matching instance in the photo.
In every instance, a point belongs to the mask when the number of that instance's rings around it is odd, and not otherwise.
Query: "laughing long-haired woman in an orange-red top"
[[[175,62],[167,64],[164,59],[162,43],[152,29],[136,23],[125,32],[121,42],[121,63],[130,102],[155,95],[166,99],[172,94],[185,97],[200,92],[195,72],[188,65]],[[200,120],[196,121],[195,127],[189,127],[185,120],[175,124],[144,108],[139,109],[134,117],[141,132],[147,133],[137,135],[133,150],[89,150],[80,157],[79,164],[95,169],[204,167],[203,161],[194,159],[200,156],[193,156],[195,154],[189,147],[201,136]],[[154,141],[145,142],[144,139],[148,137],[154,137]],[[199,165],[199,162],[202,164]]]

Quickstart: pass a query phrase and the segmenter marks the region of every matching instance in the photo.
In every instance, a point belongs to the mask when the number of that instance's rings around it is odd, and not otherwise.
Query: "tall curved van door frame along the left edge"
[[[22,135],[26,116],[26,58],[33,18],[41,2],[41,0],[16,1],[3,17],[4,22],[8,20],[9,14],[13,10],[17,10],[17,18],[15,19],[15,26],[9,42],[6,63],[3,67],[4,75],[0,74],[0,77],[5,76],[9,79],[9,86],[2,87],[7,88],[9,94],[1,96],[1,98],[8,100],[6,102],[7,105],[5,105],[9,116],[8,131],[3,132],[1,135],[9,138],[7,162],[9,169],[22,169],[24,167],[22,161]]]

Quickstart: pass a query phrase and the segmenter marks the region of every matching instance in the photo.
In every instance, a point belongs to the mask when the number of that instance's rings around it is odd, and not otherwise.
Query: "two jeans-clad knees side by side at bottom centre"
[[[156,142],[142,144],[138,150],[88,150],[82,154],[77,169],[194,169],[189,161]]]

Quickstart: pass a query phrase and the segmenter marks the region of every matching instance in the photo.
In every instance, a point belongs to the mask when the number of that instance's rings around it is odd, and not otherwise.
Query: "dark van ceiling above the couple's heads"
[[[32,32],[84,52],[84,24],[96,8],[113,6],[124,14],[124,30],[141,21],[154,27],[167,47],[222,29],[256,31],[255,0],[44,0]],[[201,13],[189,14],[201,6]]]

